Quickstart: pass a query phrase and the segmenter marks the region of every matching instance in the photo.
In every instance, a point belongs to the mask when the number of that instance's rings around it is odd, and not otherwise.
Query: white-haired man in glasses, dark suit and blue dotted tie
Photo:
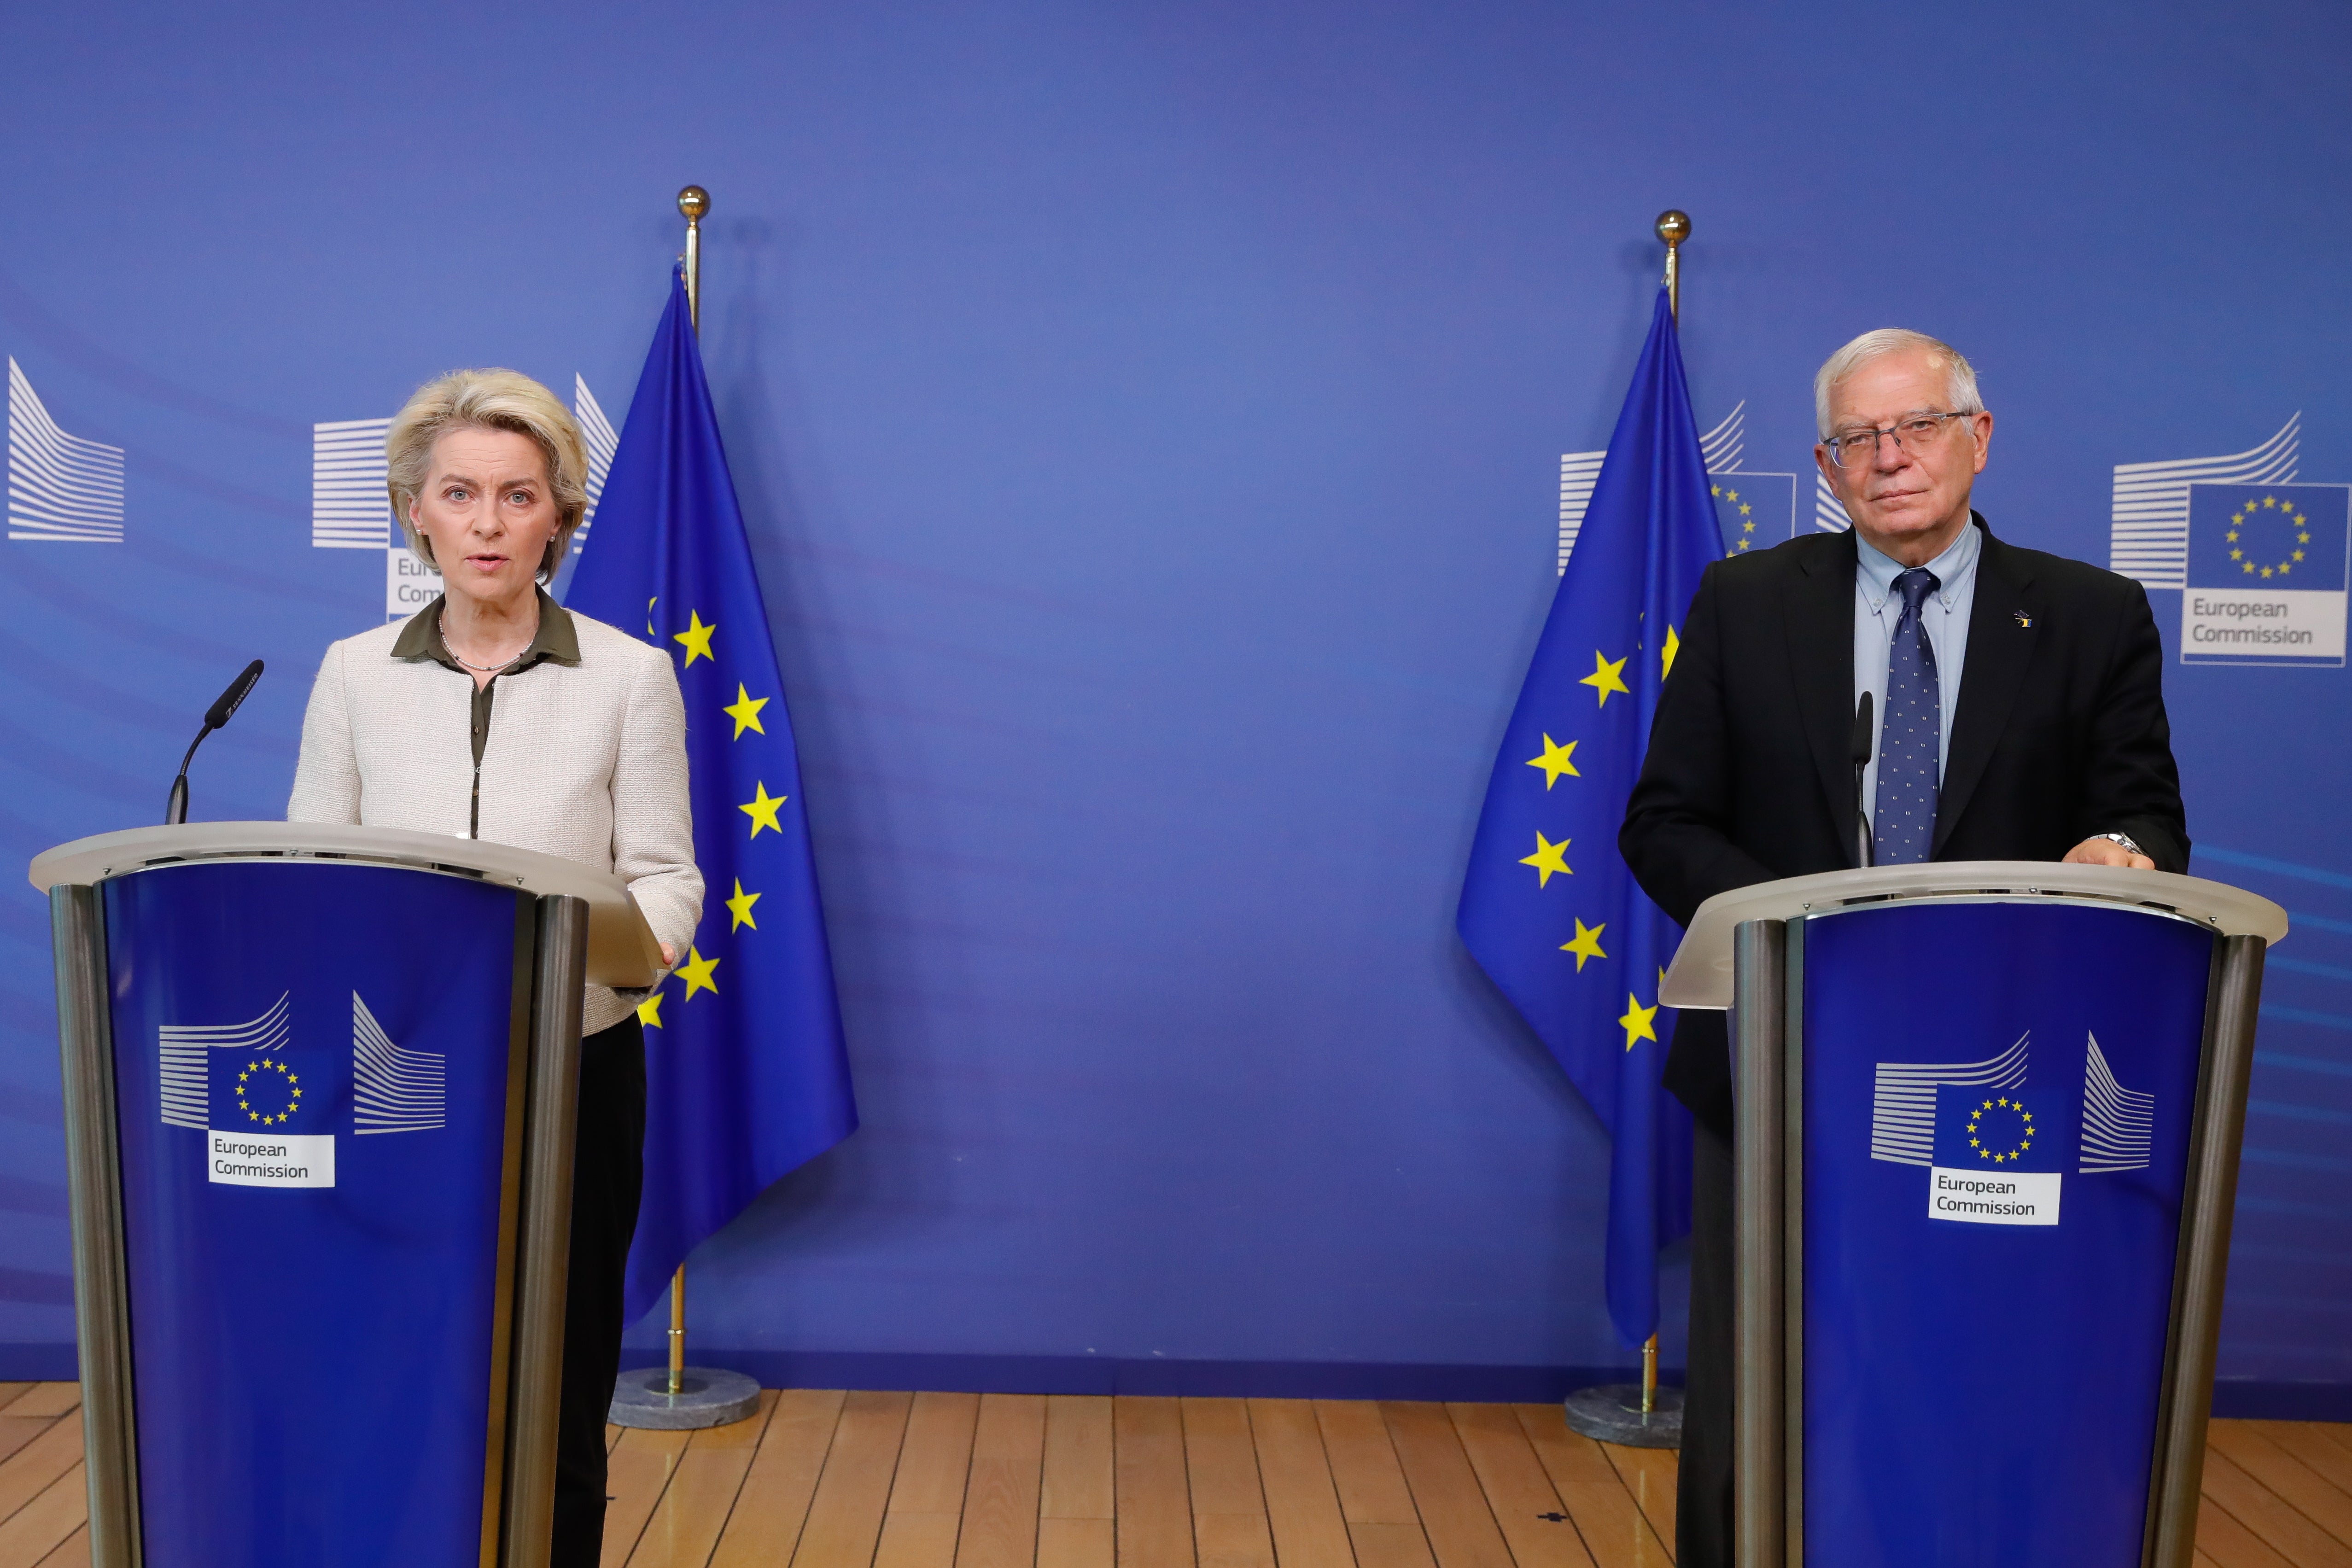
[[[1947,343],[1879,329],[1813,378],[1813,461],[1853,529],[1708,569],[1618,846],[1689,924],[1715,893],[1858,860],[2187,870],[2164,644],[2138,583],[1994,538],[1969,508],[1992,414]],[[1872,764],[1856,799],[1856,708]],[[1933,1001],[1938,973],[1917,980]],[[1893,1006],[1893,1001],[1889,1004]],[[1677,1563],[1731,1563],[1731,1058],[1682,1013],[1665,1086],[1696,1117]]]

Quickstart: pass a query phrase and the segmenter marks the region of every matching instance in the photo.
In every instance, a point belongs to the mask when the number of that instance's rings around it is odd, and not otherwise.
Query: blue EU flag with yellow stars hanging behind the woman
[[[628,1253],[635,1319],[703,1237],[858,1126],[800,750],[680,273],[567,607],[628,632],[642,625],[677,661],[694,860],[710,889],[694,947],[637,1009],[647,1117]]]

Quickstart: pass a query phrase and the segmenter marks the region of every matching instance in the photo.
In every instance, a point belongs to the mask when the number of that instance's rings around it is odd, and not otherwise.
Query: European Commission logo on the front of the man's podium
[[[1980,1063],[1877,1063],[1870,1159],[1926,1166],[1926,1218],[2058,1225],[2065,1175],[2145,1171],[2157,1100],[2084,1034],[2082,1091],[2034,1084],[2032,1032]]]

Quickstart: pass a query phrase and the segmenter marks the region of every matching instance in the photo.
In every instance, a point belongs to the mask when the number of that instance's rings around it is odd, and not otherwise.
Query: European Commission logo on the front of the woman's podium
[[[430,1133],[449,1119],[447,1058],[407,1051],[350,994],[350,1056],[296,1046],[294,992],[245,1023],[162,1025],[158,1103],[165,1126],[205,1135],[209,1180],[228,1187],[332,1187],[334,1126]]]

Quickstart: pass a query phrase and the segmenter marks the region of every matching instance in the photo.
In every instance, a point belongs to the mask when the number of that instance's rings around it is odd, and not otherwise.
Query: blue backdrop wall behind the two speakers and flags
[[[866,1126],[699,1253],[696,1352],[1557,1385],[1621,1359],[1606,1150],[1451,912],[1651,219],[1698,423],[1745,404],[1797,527],[1813,367],[1903,322],[1976,357],[1997,529],[2180,583],[2187,470],[2119,465],[2352,482],[2347,45],[2317,0],[14,7],[12,531],[122,543],[0,543],[0,849],[155,820],[252,656],[195,816],[280,816],[386,602],[315,425],[454,364],[619,423],[699,181]],[[2347,672],[2169,693],[2197,870],[2298,922],[2223,1340],[2293,1403],[2352,1387]],[[71,1340],[47,976],[16,884],[0,1375]]]

